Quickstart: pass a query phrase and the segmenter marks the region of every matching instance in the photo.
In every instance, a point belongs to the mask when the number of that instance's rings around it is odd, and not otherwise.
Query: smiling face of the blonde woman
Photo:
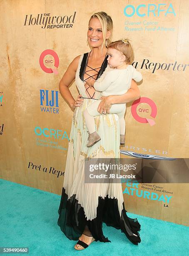
[[[92,18],[87,32],[89,46],[100,47],[103,43],[102,26],[98,18]]]

